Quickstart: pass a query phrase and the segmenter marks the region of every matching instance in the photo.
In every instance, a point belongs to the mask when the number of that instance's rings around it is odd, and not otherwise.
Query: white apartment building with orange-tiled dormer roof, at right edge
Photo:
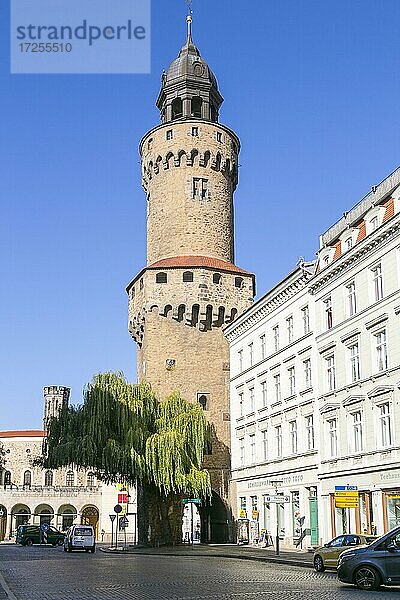
[[[324,540],[400,525],[400,169],[321,236],[315,303]],[[359,508],[335,508],[354,485]]]

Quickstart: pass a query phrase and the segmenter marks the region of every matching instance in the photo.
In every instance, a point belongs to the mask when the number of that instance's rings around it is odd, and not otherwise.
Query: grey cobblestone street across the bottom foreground
[[[399,590],[362,592],[334,573],[217,557],[72,553],[0,546],[0,599],[8,600],[390,600]],[[0,579],[1,580],[1,579]],[[5,584],[4,584],[5,582]],[[3,588],[8,588],[8,594]]]

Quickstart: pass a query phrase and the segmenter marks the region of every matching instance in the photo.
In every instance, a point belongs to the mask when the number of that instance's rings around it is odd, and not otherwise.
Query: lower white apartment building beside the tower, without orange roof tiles
[[[307,284],[314,263],[289,275],[225,330],[231,354],[232,487],[236,514],[282,543],[318,533],[318,408],[314,314]],[[273,504],[268,496],[290,496]],[[235,507],[234,507],[235,508]],[[304,523],[300,526],[301,517]]]

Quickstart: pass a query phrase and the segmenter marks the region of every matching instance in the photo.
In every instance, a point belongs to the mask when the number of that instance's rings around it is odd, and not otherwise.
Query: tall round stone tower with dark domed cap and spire
[[[161,125],[140,143],[147,265],[127,288],[129,331],[138,379],[161,398],[177,390],[199,402],[215,428],[205,460],[215,493],[205,537],[224,541],[230,415],[223,327],[251,305],[254,276],[234,264],[240,142],[218,122],[223,98],[192,41],[191,22],[189,16],[186,43],[162,75]]]

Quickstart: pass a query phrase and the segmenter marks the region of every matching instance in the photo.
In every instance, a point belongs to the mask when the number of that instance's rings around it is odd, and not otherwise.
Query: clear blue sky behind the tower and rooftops
[[[258,295],[399,164],[398,0],[194,0],[194,40],[242,141],[236,263]],[[0,3],[0,430],[41,426],[45,385],[135,380],[125,285],[145,263],[137,151],[184,0],[153,0],[151,75],[10,75]]]

